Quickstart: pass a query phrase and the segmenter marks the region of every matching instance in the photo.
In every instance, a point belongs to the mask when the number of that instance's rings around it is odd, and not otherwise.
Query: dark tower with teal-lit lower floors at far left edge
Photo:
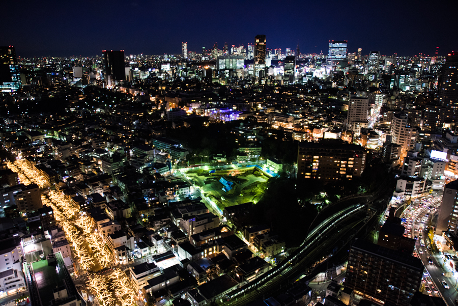
[[[14,46],[0,47],[0,92],[13,93],[21,88]]]

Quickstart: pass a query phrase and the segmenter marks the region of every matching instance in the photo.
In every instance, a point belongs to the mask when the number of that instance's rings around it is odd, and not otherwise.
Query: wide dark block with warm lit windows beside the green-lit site
[[[320,179],[326,182],[351,180],[363,174],[366,151],[363,147],[339,141],[299,143],[298,179]]]

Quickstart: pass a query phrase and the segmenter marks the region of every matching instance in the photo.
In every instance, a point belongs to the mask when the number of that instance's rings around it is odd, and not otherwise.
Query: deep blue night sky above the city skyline
[[[440,55],[458,50],[453,1],[18,1],[2,2],[0,45],[21,57],[178,54],[181,42],[200,51],[218,42],[327,53],[329,40],[349,52]]]

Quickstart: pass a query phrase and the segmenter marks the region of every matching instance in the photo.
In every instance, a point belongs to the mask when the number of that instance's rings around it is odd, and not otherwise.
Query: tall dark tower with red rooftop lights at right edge
[[[445,107],[445,122],[458,121],[458,54],[449,53],[442,66],[439,101]]]

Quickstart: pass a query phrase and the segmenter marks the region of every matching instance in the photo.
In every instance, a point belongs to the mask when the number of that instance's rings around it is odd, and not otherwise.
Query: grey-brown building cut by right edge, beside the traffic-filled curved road
[[[458,221],[458,180],[445,185],[442,194],[441,207],[437,217],[436,234],[442,235],[443,231],[455,231]]]

